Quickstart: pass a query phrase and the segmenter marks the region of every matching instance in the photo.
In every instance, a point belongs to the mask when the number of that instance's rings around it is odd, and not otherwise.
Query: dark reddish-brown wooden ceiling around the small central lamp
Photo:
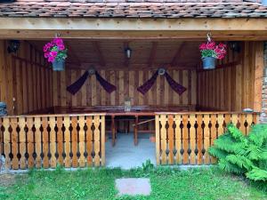
[[[48,41],[30,41],[42,51]],[[69,49],[67,68],[197,68],[201,42],[181,40],[65,40]],[[125,47],[132,50],[125,58]]]

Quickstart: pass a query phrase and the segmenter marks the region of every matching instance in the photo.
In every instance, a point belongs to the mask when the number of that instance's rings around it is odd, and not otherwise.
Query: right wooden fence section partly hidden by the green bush
[[[258,114],[184,113],[156,115],[157,164],[214,164],[208,148],[223,134],[226,124],[247,134]]]

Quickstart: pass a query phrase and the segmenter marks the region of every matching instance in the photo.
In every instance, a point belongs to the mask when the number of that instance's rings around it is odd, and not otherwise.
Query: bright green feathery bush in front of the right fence
[[[209,148],[209,154],[219,159],[224,171],[267,184],[267,124],[254,125],[248,136],[229,124],[227,131]]]

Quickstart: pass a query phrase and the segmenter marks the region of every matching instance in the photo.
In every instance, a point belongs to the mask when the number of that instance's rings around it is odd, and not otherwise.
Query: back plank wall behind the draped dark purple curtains
[[[85,70],[67,69],[63,72],[53,72],[54,106],[106,106],[124,105],[125,98],[132,99],[132,105],[181,105],[196,104],[195,70],[168,70],[170,76],[187,88],[179,96],[167,84],[164,76],[158,76],[157,84],[144,96],[136,89],[147,81],[155,71],[150,70],[100,70],[99,73],[111,84],[117,86],[117,91],[109,94],[105,92],[96,81],[95,76],[90,76],[82,89],[75,95],[67,92],[66,87],[82,76]]]

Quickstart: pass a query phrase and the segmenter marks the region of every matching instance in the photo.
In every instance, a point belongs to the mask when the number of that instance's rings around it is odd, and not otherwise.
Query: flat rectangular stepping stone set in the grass
[[[117,179],[116,188],[118,191],[118,196],[150,196],[151,186],[150,179],[143,178],[123,178]]]

